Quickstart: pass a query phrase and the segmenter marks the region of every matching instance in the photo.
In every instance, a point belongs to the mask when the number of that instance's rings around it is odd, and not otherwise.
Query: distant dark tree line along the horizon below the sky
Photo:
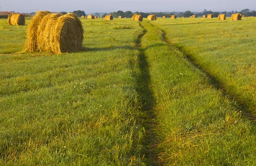
[[[15,11],[11,11],[12,13],[15,13]],[[57,12],[56,12],[57,13]],[[66,11],[61,11],[58,13],[62,13],[62,14],[67,14]],[[81,17],[82,15],[87,16],[87,14],[85,14],[84,11],[81,10],[76,10],[73,11],[72,13],[75,13],[78,17]],[[192,15],[196,15],[196,17],[202,17],[202,15],[207,15],[207,14],[212,14],[213,17],[218,17],[218,14],[226,14],[226,17],[231,17],[232,14],[234,13],[241,13],[243,14],[245,17],[250,17],[250,16],[254,16],[256,17],[256,11],[255,10],[250,10],[250,9],[243,9],[241,11],[207,11],[206,9],[204,9],[204,11],[201,12],[197,12],[197,11],[185,11],[185,12],[178,12],[178,11],[172,11],[172,12],[131,12],[131,11],[113,11],[110,13],[103,13],[103,12],[99,12],[99,13],[91,13],[94,16],[97,17],[105,17],[105,15],[111,14],[113,17],[117,18],[118,16],[122,16],[123,18],[131,18],[134,14],[140,14],[143,17],[148,17],[149,14],[155,14],[157,17],[171,17],[171,15],[176,15],[176,17],[189,17]],[[29,14],[29,15],[34,15],[35,12],[32,13],[23,13],[23,14]],[[0,12],[0,18],[7,18],[8,15],[6,14],[6,11],[2,11]]]

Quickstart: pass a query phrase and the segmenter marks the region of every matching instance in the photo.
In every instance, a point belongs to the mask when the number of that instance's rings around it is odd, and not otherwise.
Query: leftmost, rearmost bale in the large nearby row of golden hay
[[[35,16],[32,18],[28,26],[26,44],[24,46],[24,52],[37,52],[37,31],[41,20],[49,14],[49,11],[37,11]]]

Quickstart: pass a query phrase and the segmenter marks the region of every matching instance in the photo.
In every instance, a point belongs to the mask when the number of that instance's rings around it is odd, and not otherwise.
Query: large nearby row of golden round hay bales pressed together
[[[38,23],[36,29],[35,23]],[[29,26],[24,51],[51,51],[60,54],[63,52],[79,52],[83,49],[84,30],[80,19],[74,13],[62,15],[60,13],[49,14],[49,11],[38,11]],[[32,30],[37,33],[29,35]]]

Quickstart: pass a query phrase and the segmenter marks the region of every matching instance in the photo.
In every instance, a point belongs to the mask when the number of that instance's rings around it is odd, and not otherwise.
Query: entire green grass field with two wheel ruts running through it
[[[255,18],[81,21],[50,54],[0,19],[0,165],[255,165]]]

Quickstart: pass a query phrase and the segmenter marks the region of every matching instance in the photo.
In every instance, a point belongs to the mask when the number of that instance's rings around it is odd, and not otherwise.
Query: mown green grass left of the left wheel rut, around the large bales
[[[139,24],[82,20],[84,52],[57,55],[17,53],[26,26],[5,21],[15,30],[0,31],[13,45],[0,43],[0,165],[143,165]]]

